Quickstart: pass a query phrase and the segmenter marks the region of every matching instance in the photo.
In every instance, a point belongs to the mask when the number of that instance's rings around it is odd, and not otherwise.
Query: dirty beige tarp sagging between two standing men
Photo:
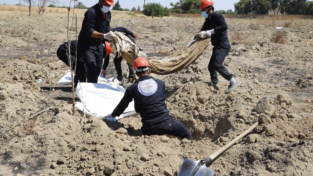
[[[114,52],[119,52],[126,62],[131,65],[137,57],[144,57],[149,61],[151,72],[157,75],[167,75],[176,73],[187,68],[197,60],[210,43],[209,38],[198,39],[190,47],[184,47],[180,51],[167,56],[161,60],[150,60],[146,54],[139,51],[136,45],[121,32],[110,32],[109,36],[113,39],[110,46]]]

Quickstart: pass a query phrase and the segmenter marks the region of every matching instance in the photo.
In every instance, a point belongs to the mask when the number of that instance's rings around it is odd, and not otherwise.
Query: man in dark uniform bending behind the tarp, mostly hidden
[[[131,32],[130,30],[123,28],[123,27],[118,27],[118,28],[112,28],[112,31],[118,31],[118,32],[122,32],[124,33],[134,44],[136,44],[135,40],[137,38],[137,34]],[[133,39],[134,38],[134,39]],[[102,74],[103,76],[106,75],[106,68],[109,65],[109,60],[110,60],[110,56],[107,55],[104,59],[104,64],[103,64],[103,69],[102,69]],[[115,58],[113,60],[114,62],[114,66],[115,66],[115,70],[117,72],[117,79],[119,81],[123,80],[123,74],[122,74],[122,66],[121,66],[121,62],[123,60],[123,57],[118,57],[118,52],[115,55]],[[131,65],[129,63],[127,63],[128,65],[128,69],[129,69],[129,76],[128,76],[128,81],[130,81],[132,78],[134,78],[134,72],[131,68]]]

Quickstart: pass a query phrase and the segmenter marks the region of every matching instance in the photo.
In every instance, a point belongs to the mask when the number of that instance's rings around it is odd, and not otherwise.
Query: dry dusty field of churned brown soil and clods
[[[171,115],[196,139],[181,141],[142,136],[139,116],[117,123],[91,117],[82,132],[81,113],[71,115],[71,87],[56,85],[67,70],[55,54],[67,40],[66,14],[0,15],[0,134],[60,103],[0,136],[0,175],[173,176],[183,158],[206,158],[256,121],[262,124],[252,135],[210,166],[217,175],[312,175],[312,20],[226,19],[233,45],[225,65],[240,82],[231,94],[224,94],[228,81],[221,76],[219,90],[210,84],[212,47],[186,70],[155,75],[166,82]],[[79,32],[83,14],[77,16]],[[203,21],[124,13],[113,14],[111,26],[138,33],[143,52],[162,58],[189,43]],[[272,40],[277,31],[282,44]],[[123,67],[126,78],[125,61]],[[108,75],[115,75],[113,68],[111,61]]]

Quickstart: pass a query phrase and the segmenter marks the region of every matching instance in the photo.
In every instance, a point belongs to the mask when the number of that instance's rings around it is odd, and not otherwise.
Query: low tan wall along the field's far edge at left
[[[28,6],[19,6],[19,5],[3,5],[0,4],[0,11],[18,11],[18,12],[28,12]],[[71,8],[71,11],[73,8]],[[87,9],[77,9],[75,8],[75,12],[77,13],[85,13]],[[32,13],[38,13],[39,8],[36,6],[31,7]],[[56,7],[46,7],[45,13],[67,13],[67,8],[56,8]]]

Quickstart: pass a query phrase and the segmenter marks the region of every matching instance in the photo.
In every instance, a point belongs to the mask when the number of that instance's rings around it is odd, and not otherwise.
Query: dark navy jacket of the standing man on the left
[[[105,18],[104,18],[105,16]],[[80,44],[87,46],[100,46],[103,39],[91,37],[94,31],[105,34],[111,30],[111,12],[103,13],[99,4],[95,4],[85,12],[83,24],[78,36]]]

